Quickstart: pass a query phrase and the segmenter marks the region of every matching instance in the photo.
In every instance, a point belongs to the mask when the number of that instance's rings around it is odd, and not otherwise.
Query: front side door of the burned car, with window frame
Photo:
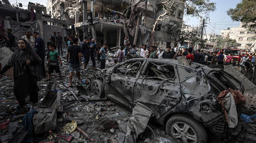
[[[109,98],[132,108],[134,84],[144,60],[128,61],[114,68],[110,74],[110,83],[105,93]]]

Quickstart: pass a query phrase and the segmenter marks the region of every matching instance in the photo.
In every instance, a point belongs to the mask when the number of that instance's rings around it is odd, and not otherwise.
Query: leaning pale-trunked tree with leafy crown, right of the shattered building
[[[164,13],[161,14],[159,17],[156,18],[156,22],[150,33],[150,37],[147,40],[148,45],[154,45],[154,35],[156,25],[159,21],[164,21],[173,12],[173,6],[178,6],[179,4],[183,4],[184,11],[186,14],[191,16],[199,16],[200,13],[207,13],[214,11],[216,6],[215,3],[210,2],[210,0],[165,0],[161,2],[163,6]]]

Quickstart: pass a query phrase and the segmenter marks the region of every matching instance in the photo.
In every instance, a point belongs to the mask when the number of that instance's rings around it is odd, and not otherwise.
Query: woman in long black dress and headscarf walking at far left
[[[0,78],[2,78],[3,73],[13,67],[14,95],[19,103],[18,107],[22,107],[26,105],[28,95],[32,104],[38,101],[37,81],[42,79],[40,67],[42,60],[26,40],[19,39],[18,47],[8,64],[0,71]]]

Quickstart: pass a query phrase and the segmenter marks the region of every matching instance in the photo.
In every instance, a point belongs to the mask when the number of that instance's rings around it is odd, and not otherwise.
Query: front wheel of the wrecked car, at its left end
[[[96,79],[92,81],[91,91],[100,96],[100,98],[105,98],[104,84],[102,80]]]

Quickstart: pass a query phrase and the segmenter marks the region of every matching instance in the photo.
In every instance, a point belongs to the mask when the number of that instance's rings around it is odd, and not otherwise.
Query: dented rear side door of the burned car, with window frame
[[[180,101],[180,84],[175,64],[148,61],[134,87],[137,102],[149,106],[157,118]]]

